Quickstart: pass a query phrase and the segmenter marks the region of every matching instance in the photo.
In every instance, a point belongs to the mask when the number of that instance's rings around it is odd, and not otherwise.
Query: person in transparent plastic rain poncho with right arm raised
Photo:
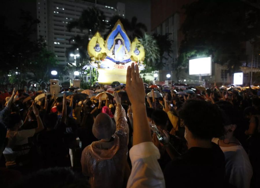
[[[129,127],[121,100],[117,103],[115,121],[105,113],[97,115],[92,132],[99,141],[87,146],[81,155],[82,172],[89,176],[91,187],[122,187],[127,164]]]

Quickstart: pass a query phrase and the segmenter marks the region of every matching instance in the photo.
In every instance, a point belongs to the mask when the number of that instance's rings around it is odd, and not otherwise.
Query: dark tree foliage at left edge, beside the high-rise
[[[2,17],[4,22],[5,18]],[[21,10],[21,26],[17,31],[9,29],[5,23],[0,56],[3,62],[1,75],[10,76],[10,81],[46,80],[50,70],[57,66],[55,55],[46,48],[42,37],[34,40],[36,26],[40,22],[31,16],[30,12]],[[35,37],[36,38],[36,37]],[[16,73],[17,72],[17,73]],[[25,82],[26,83],[26,82]]]

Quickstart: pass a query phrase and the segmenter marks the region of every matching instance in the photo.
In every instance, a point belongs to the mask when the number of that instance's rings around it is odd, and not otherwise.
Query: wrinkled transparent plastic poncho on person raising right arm
[[[89,182],[92,188],[121,188],[123,185],[129,127],[125,110],[121,105],[117,105],[114,118],[116,121],[116,132],[112,135],[114,142],[99,140],[87,146],[82,152],[82,172],[90,176]]]

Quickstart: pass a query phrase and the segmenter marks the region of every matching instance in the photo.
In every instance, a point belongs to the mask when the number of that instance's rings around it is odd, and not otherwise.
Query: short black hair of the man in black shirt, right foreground
[[[204,100],[187,100],[179,112],[195,138],[208,140],[222,135],[222,114],[217,105]]]

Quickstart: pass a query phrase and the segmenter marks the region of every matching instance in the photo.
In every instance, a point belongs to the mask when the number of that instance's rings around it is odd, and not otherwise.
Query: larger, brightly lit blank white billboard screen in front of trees
[[[196,58],[189,60],[189,74],[190,75],[211,75],[211,57]]]

